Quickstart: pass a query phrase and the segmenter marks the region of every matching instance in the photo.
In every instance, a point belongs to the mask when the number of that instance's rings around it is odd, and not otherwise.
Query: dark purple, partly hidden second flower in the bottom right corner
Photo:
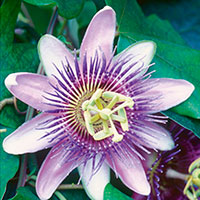
[[[147,172],[151,193],[148,198],[134,194],[135,200],[188,199],[183,191],[189,180],[187,174],[190,164],[200,158],[200,140],[191,131],[174,122],[170,123],[169,130],[175,147],[157,153],[156,160]]]

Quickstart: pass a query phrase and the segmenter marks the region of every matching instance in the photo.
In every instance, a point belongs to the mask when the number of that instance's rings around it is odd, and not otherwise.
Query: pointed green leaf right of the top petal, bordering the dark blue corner
[[[156,15],[145,17],[135,0],[125,0],[121,4],[120,0],[106,0],[106,2],[116,11],[119,33],[136,32],[144,39],[157,38],[161,41],[185,44],[168,21],[161,20]]]

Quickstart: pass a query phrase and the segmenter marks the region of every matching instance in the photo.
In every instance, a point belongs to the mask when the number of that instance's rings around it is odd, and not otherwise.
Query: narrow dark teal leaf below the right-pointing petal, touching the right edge
[[[184,128],[191,130],[197,137],[200,138],[200,120],[181,116],[171,110],[162,113],[183,126]]]

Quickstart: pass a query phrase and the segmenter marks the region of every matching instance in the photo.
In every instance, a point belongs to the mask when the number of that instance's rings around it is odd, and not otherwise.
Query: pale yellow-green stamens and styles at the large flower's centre
[[[103,99],[106,101],[103,101]],[[89,134],[95,140],[103,140],[114,135],[113,142],[120,142],[123,135],[118,133],[114,121],[120,123],[123,131],[128,131],[125,107],[132,108],[133,105],[134,102],[130,97],[97,89],[89,100],[82,103],[85,124]],[[97,121],[101,122],[102,130],[95,130],[94,123]]]

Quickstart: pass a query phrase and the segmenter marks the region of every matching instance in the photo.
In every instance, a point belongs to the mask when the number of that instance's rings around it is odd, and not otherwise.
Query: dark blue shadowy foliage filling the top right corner
[[[200,1],[157,1],[148,0],[142,5],[146,15],[157,14],[167,19],[192,48],[200,49]],[[170,13],[170,14],[169,14]]]

